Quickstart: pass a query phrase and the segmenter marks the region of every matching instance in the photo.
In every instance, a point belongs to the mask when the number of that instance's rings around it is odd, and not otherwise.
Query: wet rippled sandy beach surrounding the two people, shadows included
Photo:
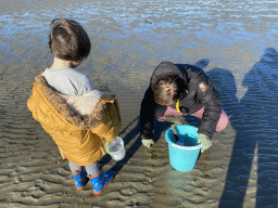
[[[276,1],[1,0],[1,208],[277,208],[278,16]],[[79,22],[92,43],[77,68],[119,102],[126,156],[100,162],[115,172],[101,196],[76,191],[67,161],[27,109],[34,78],[52,64],[50,22]],[[140,103],[162,61],[203,68],[216,86],[228,127],[189,172],[169,164],[165,131],[152,150],[139,138]],[[198,120],[188,118],[198,127]]]

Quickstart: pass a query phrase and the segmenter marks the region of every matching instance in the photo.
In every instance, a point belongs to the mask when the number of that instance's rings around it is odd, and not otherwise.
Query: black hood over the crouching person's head
[[[166,75],[178,75],[180,78],[185,80],[185,83],[188,83],[188,76],[186,70],[182,67],[173,64],[172,62],[162,62],[156,66],[152,74],[151,78],[151,88],[153,89],[154,83],[163,76]]]

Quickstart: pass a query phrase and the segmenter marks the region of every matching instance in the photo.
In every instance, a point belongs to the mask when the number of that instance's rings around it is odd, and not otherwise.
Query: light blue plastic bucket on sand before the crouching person
[[[194,168],[200,150],[203,143],[198,144],[199,133],[197,128],[189,125],[176,126],[179,138],[184,138],[186,146],[176,144],[172,128],[165,133],[165,139],[168,142],[169,161],[174,169],[187,172]]]

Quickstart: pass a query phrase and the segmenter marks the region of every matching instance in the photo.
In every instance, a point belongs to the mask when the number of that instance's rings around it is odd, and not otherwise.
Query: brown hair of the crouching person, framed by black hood
[[[186,94],[187,86],[178,75],[166,75],[154,83],[154,101],[161,105],[170,105]]]

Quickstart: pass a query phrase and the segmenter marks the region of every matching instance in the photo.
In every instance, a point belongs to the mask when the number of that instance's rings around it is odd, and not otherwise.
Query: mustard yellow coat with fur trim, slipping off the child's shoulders
[[[90,115],[79,116],[42,76],[36,77],[27,106],[64,156],[79,166],[93,164],[105,155],[104,143],[118,135],[122,125],[116,99],[102,95]]]

